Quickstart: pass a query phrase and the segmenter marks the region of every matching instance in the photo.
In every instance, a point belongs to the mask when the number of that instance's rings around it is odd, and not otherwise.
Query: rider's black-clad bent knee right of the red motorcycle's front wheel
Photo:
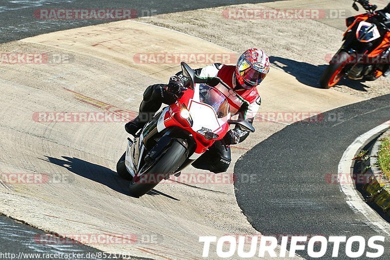
[[[225,147],[221,141],[215,141],[208,151],[192,163],[192,166],[214,173],[222,173],[228,170],[231,161],[230,147]]]

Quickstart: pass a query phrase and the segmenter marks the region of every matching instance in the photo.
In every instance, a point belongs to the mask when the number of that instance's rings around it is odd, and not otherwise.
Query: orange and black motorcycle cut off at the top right
[[[346,19],[344,43],[321,77],[322,88],[331,88],[343,77],[376,80],[390,74],[390,4],[375,11],[377,6],[368,0],[355,0],[352,7],[356,11],[359,11],[356,2],[367,12]]]

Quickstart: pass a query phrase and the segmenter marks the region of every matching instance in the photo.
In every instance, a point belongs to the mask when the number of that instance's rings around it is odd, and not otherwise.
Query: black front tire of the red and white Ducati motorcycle
[[[137,176],[131,181],[129,190],[133,197],[141,197],[151,191],[168,174],[173,174],[181,166],[182,158],[186,148],[179,142],[174,141],[165,154],[154,165],[149,167],[139,178]],[[137,180],[135,180],[137,179]]]

